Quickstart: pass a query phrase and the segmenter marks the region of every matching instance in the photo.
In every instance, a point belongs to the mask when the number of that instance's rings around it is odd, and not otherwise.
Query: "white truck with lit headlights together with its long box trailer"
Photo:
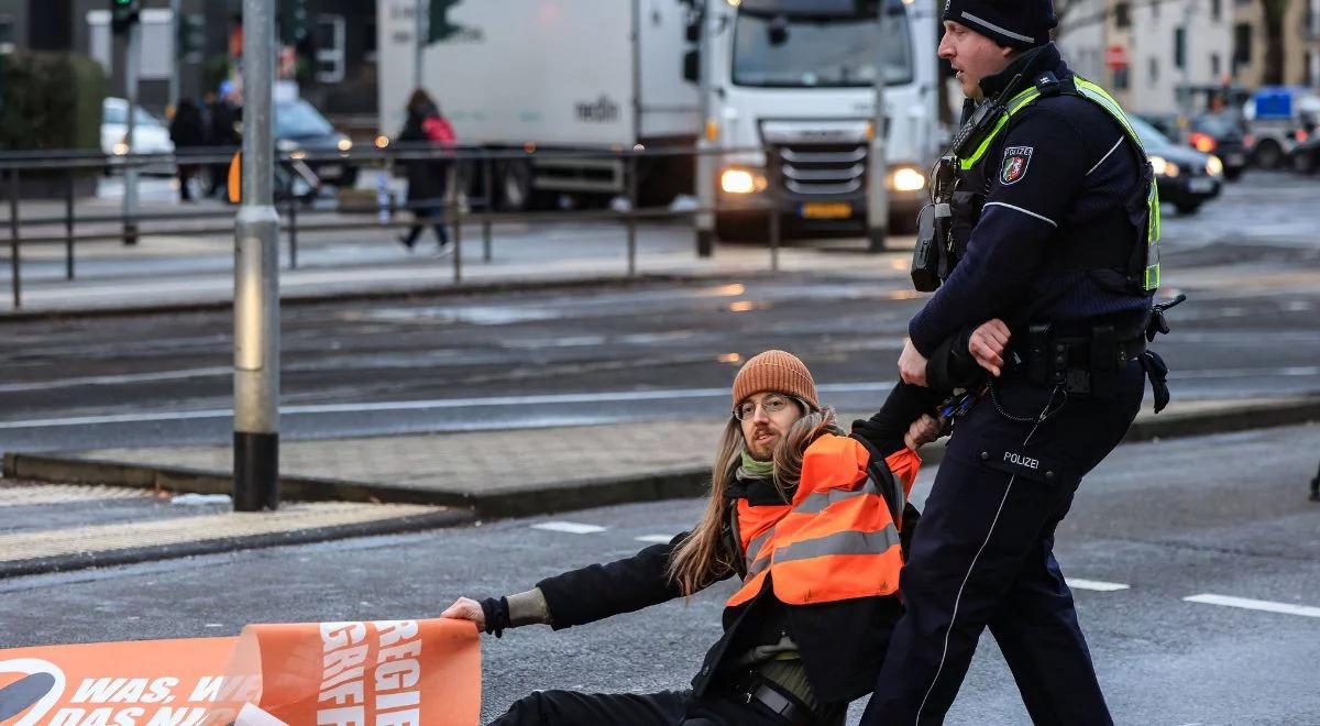
[[[883,0],[890,206],[913,216],[935,156],[935,0]],[[553,195],[616,195],[627,164],[572,150],[719,153],[694,185],[690,154],[648,160],[643,199],[702,189],[729,207],[721,236],[766,219],[764,190],[789,224],[861,231],[874,111],[878,0],[381,0],[380,127],[393,136],[417,75],[418,3],[429,5],[421,83],[459,143],[515,154],[494,165],[504,209]],[[701,28],[706,29],[700,42]],[[706,50],[698,54],[698,45]],[[698,92],[708,74],[706,116]],[[783,164],[767,180],[766,150]],[[774,183],[771,183],[774,182]],[[737,207],[742,203],[743,210]]]

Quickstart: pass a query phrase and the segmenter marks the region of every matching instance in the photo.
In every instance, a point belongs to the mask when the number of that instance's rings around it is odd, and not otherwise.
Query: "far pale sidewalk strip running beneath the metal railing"
[[[226,207],[199,205],[199,210]],[[232,210],[232,207],[227,207]],[[405,222],[407,214],[396,222]],[[630,279],[627,228],[618,222],[554,220],[506,223],[492,228],[491,257],[486,260],[479,216],[462,228],[461,255],[434,256],[433,232],[426,230],[416,251],[396,238],[399,227],[335,230],[337,224],[371,223],[371,215],[317,213],[300,215],[301,224],[330,227],[300,231],[297,267],[290,268],[289,234],[281,235],[280,292],[285,302],[352,296],[404,296],[469,292],[490,288],[594,285]],[[183,227],[224,227],[223,219]],[[149,227],[149,224],[145,224]],[[231,226],[231,223],[230,223]],[[49,228],[46,228],[49,227]],[[112,223],[94,226],[114,231]],[[90,231],[87,230],[81,231]],[[29,232],[24,232],[29,234]],[[58,227],[41,234],[58,236]],[[453,230],[451,230],[451,236]],[[904,279],[912,236],[891,238],[892,252],[871,255],[859,239],[788,243],[780,251],[783,272],[840,272],[876,279]],[[8,243],[0,244],[8,256]],[[0,318],[81,312],[224,308],[234,298],[234,235],[178,234],[143,238],[136,246],[120,242],[79,243],[75,279],[65,279],[65,246],[21,248],[21,308],[15,309],[9,264],[0,265]],[[455,261],[459,263],[455,280]],[[714,256],[696,253],[688,218],[640,222],[634,273],[639,279],[710,279],[770,273],[771,251],[762,244],[719,244]]]

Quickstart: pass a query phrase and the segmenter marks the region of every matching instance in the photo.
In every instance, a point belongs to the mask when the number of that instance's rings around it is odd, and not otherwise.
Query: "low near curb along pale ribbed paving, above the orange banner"
[[[0,562],[0,579],[33,574],[86,570],[92,568],[108,568],[114,565],[136,565],[139,562],[177,560],[181,557],[238,552],[242,549],[265,549],[271,546],[323,543],[350,537],[399,535],[404,532],[417,532],[421,529],[469,524],[475,519],[477,517],[467,510],[446,510],[426,515],[408,515],[376,521],[341,524],[335,527],[313,527],[308,529],[272,532],[267,535],[220,537],[170,545],[136,546],[129,549],[110,549],[104,552],[79,552],[77,554],[59,557],[17,560],[13,562]]]

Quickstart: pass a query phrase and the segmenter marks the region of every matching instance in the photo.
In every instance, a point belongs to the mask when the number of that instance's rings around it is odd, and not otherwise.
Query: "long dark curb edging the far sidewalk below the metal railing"
[[[302,305],[319,305],[325,302],[374,302],[374,301],[392,301],[392,300],[416,300],[416,298],[434,298],[446,297],[455,294],[499,294],[508,292],[546,292],[546,290],[573,290],[579,288],[627,288],[634,285],[647,285],[647,284],[682,284],[682,282],[705,282],[709,280],[719,280],[725,277],[738,277],[739,280],[759,280],[766,277],[772,277],[775,273],[770,271],[754,271],[754,272],[693,272],[693,273],[672,273],[672,272],[656,272],[656,273],[640,273],[632,277],[627,275],[605,275],[597,277],[576,277],[576,279],[556,279],[556,280],[498,280],[490,282],[458,282],[449,285],[432,285],[432,286],[418,286],[411,289],[400,290],[362,290],[362,292],[341,292],[341,293],[310,293],[310,294],[290,294],[282,296],[280,298],[281,305],[302,306]],[[32,322],[32,321],[58,321],[70,318],[114,318],[114,317],[129,317],[129,315],[166,315],[166,314],[185,314],[185,313],[214,313],[220,310],[231,310],[234,308],[232,300],[216,300],[210,302],[177,302],[177,304],[157,304],[157,305],[125,305],[121,308],[62,308],[58,310],[4,310],[0,312],[0,325],[8,322]]]

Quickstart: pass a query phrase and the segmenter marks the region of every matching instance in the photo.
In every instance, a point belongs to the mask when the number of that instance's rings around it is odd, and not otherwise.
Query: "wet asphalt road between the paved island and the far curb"
[[[1177,399],[1320,391],[1320,232],[1296,214],[1320,183],[1247,181],[1164,223],[1164,290],[1192,296],[1158,345]],[[281,434],[719,416],[739,362],[768,347],[865,411],[920,305],[895,269],[285,306]],[[0,323],[0,450],[230,441],[231,327],[227,313]]]

